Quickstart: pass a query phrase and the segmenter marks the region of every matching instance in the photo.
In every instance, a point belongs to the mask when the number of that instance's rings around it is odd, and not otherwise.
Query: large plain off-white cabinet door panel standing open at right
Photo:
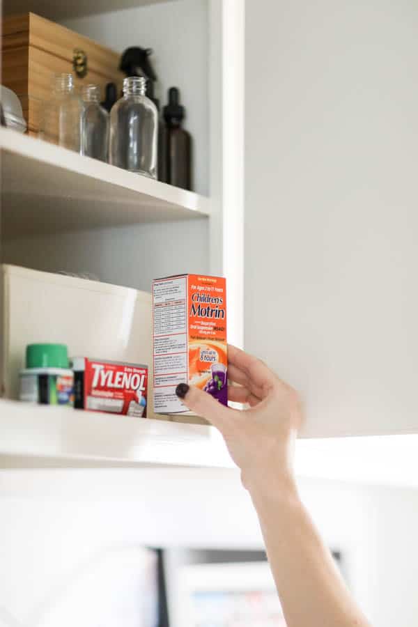
[[[307,433],[416,431],[418,5],[246,20],[246,346],[302,390]]]

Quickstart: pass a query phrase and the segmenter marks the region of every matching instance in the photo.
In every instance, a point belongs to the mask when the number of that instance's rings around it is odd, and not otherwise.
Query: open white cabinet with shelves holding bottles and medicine
[[[123,293],[130,288],[136,294],[149,292],[152,279],[178,272],[225,274],[231,286],[229,338],[240,343],[243,4],[236,0],[71,4],[20,0],[6,3],[5,10],[9,14],[38,11],[118,52],[134,45],[152,47],[161,104],[167,100],[167,88],[176,85],[186,107],[196,191],[148,180],[0,129],[0,262],[45,272],[88,272],[103,281],[103,293],[109,291],[108,283],[123,286]],[[237,111],[241,111],[238,116]],[[230,243],[231,231],[235,236]],[[35,297],[35,291],[33,286],[22,299],[22,314],[23,308],[31,311],[27,299]],[[138,350],[130,345],[129,360],[134,362],[149,362],[140,355],[134,358],[149,348],[150,316],[144,299],[144,307],[135,309],[134,324],[144,318],[148,342],[141,342]],[[68,315],[64,318],[68,320]],[[50,341],[58,341],[63,328],[52,327]],[[29,325],[26,331],[31,334],[33,328]],[[20,348],[13,344],[13,355],[3,350],[3,370],[10,369],[4,378],[9,398],[16,398],[25,337],[28,340],[27,333],[22,334]],[[67,343],[75,343],[73,332]],[[87,343],[93,350],[91,341]],[[105,350],[102,354],[95,347],[93,352],[109,358]],[[122,353],[119,358],[125,360]],[[118,465],[231,464],[217,434],[198,417],[158,421],[152,417],[133,424],[107,415],[74,414],[0,401],[4,434],[0,465],[13,465],[13,460],[18,466],[30,465],[30,460],[42,465],[51,459],[62,466],[98,460]],[[190,421],[196,424],[187,424]]]

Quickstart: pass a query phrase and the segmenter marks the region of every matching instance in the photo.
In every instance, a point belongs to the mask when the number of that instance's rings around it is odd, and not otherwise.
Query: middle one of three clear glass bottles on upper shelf
[[[87,157],[107,161],[109,146],[109,114],[100,105],[100,87],[85,85],[82,88],[84,120],[82,153]]]

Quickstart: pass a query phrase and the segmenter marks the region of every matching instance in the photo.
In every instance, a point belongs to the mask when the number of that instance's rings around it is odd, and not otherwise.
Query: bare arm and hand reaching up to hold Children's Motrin
[[[180,385],[187,407],[219,428],[240,467],[265,540],[288,627],[369,627],[353,601],[297,493],[295,438],[300,399],[263,362],[229,347],[229,399],[220,405],[206,392]]]

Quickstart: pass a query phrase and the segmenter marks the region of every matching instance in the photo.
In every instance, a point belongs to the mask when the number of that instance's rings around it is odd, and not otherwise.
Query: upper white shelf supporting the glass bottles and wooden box
[[[0,129],[5,240],[140,222],[204,217],[199,194]]]

